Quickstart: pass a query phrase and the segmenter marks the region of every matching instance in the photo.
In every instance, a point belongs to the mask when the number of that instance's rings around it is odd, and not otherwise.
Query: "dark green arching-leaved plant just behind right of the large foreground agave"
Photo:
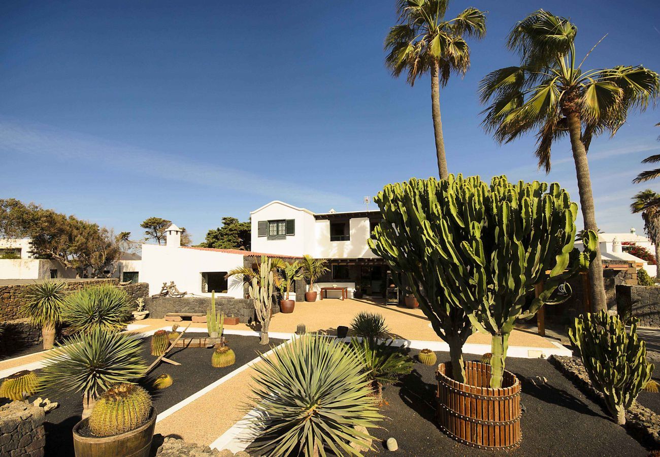
[[[374,396],[383,398],[383,385],[394,384],[406,374],[413,371],[413,360],[389,343],[374,343],[368,338],[352,338],[350,346],[362,365],[368,381],[370,381]]]

